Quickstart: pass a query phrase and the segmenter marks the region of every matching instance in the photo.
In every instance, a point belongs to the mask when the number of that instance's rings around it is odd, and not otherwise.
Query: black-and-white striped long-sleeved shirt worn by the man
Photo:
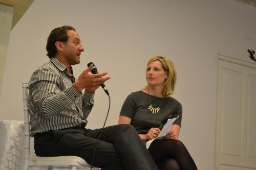
[[[31,136],[81,126],[94,105],[94,93],[77,92],[73,86],[73,70],[51,58],[33,72],[29,85]]]

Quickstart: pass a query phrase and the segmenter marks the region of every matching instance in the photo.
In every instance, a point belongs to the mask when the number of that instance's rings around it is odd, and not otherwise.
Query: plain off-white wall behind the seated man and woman
[[[199,169],[214,169],[217,54],[253,62],[247,49],[256,50],[255,20],[255,7],[233,0],[36,0],[11,31],[0,119],[23,119],[22,82],[48,61],[50,31],[71,25],[85,47],[75,76],[91,61],[111,76],[107,126],[117,123],[126,96],[146,85],[148,59],[163,55],[174,62],[174,98],[183,105],[179,139]],[[95,100],[88,128],[102,127],[108,110],[102,89]]]

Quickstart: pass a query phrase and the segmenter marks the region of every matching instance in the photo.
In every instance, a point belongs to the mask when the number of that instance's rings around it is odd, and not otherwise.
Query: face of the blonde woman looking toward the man
[[[168,78],[167,72],[164,71],[162,63],[158,60],[153,61],[148,65],[146,72],[147,84],[150,86],[162,85]]]

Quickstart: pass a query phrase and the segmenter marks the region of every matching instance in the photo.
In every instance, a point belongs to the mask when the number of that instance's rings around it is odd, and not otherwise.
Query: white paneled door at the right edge
[[[256,169],[256,64],[218,61],[215,169]]]

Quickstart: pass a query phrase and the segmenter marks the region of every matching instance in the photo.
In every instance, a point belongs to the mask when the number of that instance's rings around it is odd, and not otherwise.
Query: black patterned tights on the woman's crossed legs
[[[180,140],[163,139],[154,142],[151,146],[153,148],[150,147],[149,151],[159,170],[197,169],[193,158]]]

